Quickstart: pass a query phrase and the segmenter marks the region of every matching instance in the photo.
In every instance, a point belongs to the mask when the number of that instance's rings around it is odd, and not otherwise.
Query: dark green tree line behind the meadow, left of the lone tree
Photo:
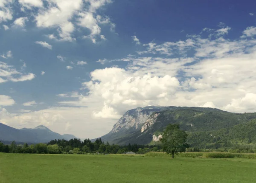
[[[25,154],[123,154],[124,152],[134,152],[145,154],[150,151],[160,152],[160,145],[138,145],[128,144],[119,146],[103,142],[101,138],[92,142],[90,139],[81,141],[80,139],[52,140],[49,143],[17,145],[15,141],[10,145],[0,142],[0,152],[6,153],[25,153]]]

